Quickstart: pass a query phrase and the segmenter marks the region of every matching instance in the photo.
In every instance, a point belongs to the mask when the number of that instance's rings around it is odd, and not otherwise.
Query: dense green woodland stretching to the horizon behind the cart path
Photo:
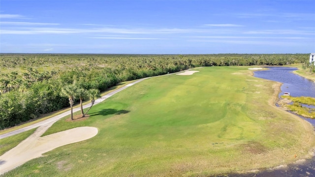
[[[307,63],[309,54],[0,55],[0,129],[69,106],[63,89],[104,91],[123,81],[197,66]],[[89,99],[81,97],[74,100]],[[93,100],[93,98],[90,97]]]

